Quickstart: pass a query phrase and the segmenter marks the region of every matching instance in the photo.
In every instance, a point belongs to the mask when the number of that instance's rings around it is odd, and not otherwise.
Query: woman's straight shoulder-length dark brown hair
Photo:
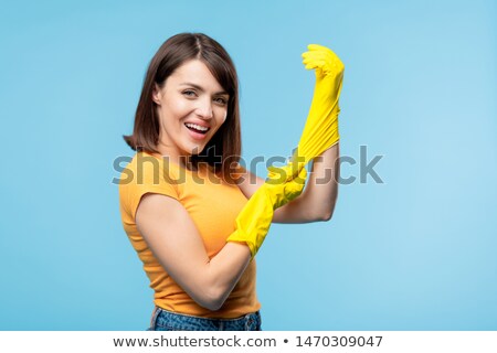
[[[147,69],[140,99],[135,115],[133,135],[124,136],[135,150],[158,153],[159,116],[152,100],[154,87],[162,87],[166,79],[189,60],[200,60],[214,78],[230,95],[226,120],[208,142],[200,154],[191,162],[197,165],[203,161],[230,178],[232,163],[239,162],[242,137],[239,107],[239,79],[234,64],[228,52],[213,39],[203,33],[180,33],[168,39],[154,55]]]

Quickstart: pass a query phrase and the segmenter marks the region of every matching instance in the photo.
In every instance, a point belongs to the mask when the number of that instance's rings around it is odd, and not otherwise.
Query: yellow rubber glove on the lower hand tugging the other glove
[[[287,165],[284,168],[288,169]],[[246,243],[252,258],[257,254],[269,231],[274,210],[287,204],[300,195],[304,190],[307,176],[305,168],[295,178],[285,180],[277,173],[278,170],[277,168],[269,170],[266,182],[257,189],[236,217],[236,231],[226,239],[228,242]],[[286,171],[281,171],[281,173],[287,174]]]

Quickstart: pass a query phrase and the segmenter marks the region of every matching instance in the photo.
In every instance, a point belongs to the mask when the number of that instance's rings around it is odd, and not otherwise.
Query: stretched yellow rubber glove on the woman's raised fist
[[[299,157],[304,164],[321,154],[340,139],[338,115],[340,108],[343,63],[328,47],[309,44],[308,52],[302,54],[307,69],[315,69],[316,85],[313,103],[300,140],[293,159]]]

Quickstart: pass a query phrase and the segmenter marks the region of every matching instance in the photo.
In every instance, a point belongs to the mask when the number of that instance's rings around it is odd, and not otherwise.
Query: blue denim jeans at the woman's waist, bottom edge
[[[258,311],[236,319],[209,319],[156,307],[147,331],[261,331]]]

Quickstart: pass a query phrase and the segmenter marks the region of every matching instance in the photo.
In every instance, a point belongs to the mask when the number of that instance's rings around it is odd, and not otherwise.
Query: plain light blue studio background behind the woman
[[[144,330],[152,292],[120,224],[113,161],[149,60],[204,32],[241,79],[243,157],[289,154],[314,74],[346,65],[328,223],[274,225],[265,330],[497,330],[494,1],[2,1],[0,329]],[[262,169],[260,170],[260,172]],[[359,163],[342,176],[360,176]]]

